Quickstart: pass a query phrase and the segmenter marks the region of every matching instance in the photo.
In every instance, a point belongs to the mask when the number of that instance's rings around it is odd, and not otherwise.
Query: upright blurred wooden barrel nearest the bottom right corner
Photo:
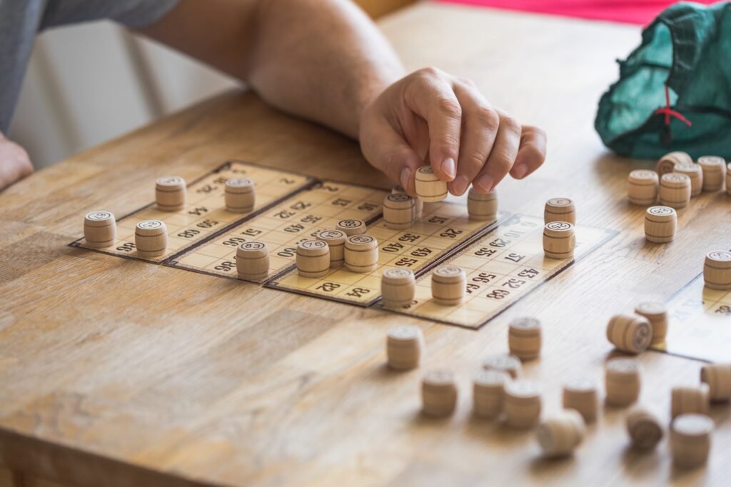
[[[676,467],[702,467],[711,453],[713,420],[705,415],[680,415],[673,420],[670,431],[670,450]]]

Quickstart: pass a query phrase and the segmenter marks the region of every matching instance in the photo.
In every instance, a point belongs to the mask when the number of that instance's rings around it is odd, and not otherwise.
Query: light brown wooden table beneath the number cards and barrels
[[[469,76],[493,103],[548,129],[548,162],[501,185],[503,208],[539,215],[548,197],[569,195],[580,222],[620,235],[480,331],[69,248],[87,211],[126,214],[151,200],[156,176],[192,179],[229,158],[387,184],[351,140],[252,94],[164,118],[0,194],[0,461],[16,480],[727,485],[729,407],[713,408],[719,426],[707,469],[675,471],[667,444],[647,456],[629,452],[621,409],[589,427],[574,458],[543,461],[533,432],[472,418],[469,394],[454,417],[422,418],[422,372],[384,365],[387,329],[419,325],[426,366],[454,369],[466,391],[480,358],[506,350],[507,321],[535,315],[545,348],[525,375],[555,412],[567,377],[602,379],[611,314],[668,298],[700,272],[705,249],[728,246],[719,222],[729,221],[731,203],[721,194],[681,212],[672,245],[645,243],[644,210],[625,197],[626,175],[640,162],[607,154],[594,133],[614,59],[637,45],[640,29],[428,3],[380,25],[409,69]],[[656,352],[640,360],[642,400],[662,410],[670,387],[697,380],[701,366]]]

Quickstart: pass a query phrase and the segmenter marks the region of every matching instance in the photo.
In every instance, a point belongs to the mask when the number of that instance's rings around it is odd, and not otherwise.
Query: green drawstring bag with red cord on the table
[[[622,156],[731,159],[731,4],[675,4],[643,31],[594,127]]]

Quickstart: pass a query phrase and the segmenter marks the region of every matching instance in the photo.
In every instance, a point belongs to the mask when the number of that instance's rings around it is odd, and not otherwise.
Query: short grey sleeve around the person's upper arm
[[[154,23],[179,0],[48,0],[39,30],[90,20],[115,20],[136,28]]]

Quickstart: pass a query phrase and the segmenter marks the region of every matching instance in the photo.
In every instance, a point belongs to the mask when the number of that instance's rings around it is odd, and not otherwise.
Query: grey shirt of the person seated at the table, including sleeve
[[[0,132],[7,133],[36,34],[54,26],[110,19],[142,27],[178,0],[0,0]]]

